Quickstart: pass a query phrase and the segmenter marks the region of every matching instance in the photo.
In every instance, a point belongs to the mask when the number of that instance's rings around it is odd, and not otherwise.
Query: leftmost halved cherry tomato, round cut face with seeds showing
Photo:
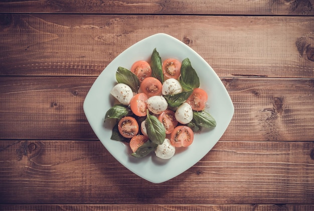
[[[131,138],[138,133],[138,123],[132,116],[124,116],[118,122],[118,130],[123,137]]]

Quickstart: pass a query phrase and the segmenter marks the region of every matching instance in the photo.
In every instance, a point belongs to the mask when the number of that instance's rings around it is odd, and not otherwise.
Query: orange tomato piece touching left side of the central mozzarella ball
[[[135,94],[130,101],[130,107],[132,112],[137,116],[145,116],[147,114],[147,95],[144,93]]]

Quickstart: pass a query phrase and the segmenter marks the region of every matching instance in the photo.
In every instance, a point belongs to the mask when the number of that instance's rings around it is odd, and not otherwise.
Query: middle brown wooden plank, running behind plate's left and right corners
[[[95,79],[0,77],[0,138],[97,139],[83,111],[83,101]],[[313,140],[313,79],[222,81],[235,114],[221,140]]]

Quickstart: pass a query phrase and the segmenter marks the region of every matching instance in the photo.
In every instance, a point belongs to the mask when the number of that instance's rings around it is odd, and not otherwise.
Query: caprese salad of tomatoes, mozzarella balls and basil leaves
[[[216,126],[205,111],[208,100],[190,59],[162,61],[156,48],[150,63],[135,61],[130,69],[118,67],[117,84],[110,94],[115,103],[105,114],[115,119],[111,139],[129,144],[132,156],[152,151],[169,159],[176,147],[192,144],[194,132]]]

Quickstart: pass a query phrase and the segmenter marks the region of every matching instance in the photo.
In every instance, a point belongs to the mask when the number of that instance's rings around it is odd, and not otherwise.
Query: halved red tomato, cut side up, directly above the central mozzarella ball
[[[161,95],[163,84],[155,77],[146,77],[140,83],[140,88],[148,97]]]

